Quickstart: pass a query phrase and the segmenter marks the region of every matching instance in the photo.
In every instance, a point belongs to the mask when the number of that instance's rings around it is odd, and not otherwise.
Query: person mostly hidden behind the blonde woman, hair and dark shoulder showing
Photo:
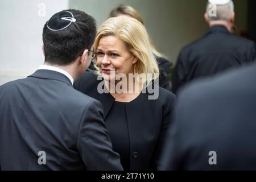
[[[133,7],[128,6],[128,5],[119,5],[115,9],[113,9],[110,12],[110,18],[111,17],[116,17],[116,16],[121,16],[121,15],[126,15],[130,16],[131,18],[137,19],[139,22],[144,24],[142,16],[138,13],[137,10],[135,10]],[[152,52],[155,55],[156,61],[158,62],[159,65],[159,71],[160,71],[160,76],[159,76],[159,86],[161,86],[164,89],[167,89],[171,91],[171,84],[170,81],[167,78],[167,71],[169,68],[172,67],[172,63],[168,61],[165,56],[160,53],[159,51],[156,50],[154,43],[150,39],[150,48]]]

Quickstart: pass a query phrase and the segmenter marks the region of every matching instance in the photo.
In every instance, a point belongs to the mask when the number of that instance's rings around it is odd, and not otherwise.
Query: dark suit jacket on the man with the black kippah
[[[1,170],[122,169],[102,117],[100,102],[58,72],[39,70],[0,86]]]

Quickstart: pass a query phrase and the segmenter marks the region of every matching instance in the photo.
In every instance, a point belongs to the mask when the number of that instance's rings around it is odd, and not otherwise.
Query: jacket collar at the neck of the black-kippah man
[[[48,80],[57,80],[64,82],[65,84],[72,86],[72,82],[69,80],[69,78],[62,73],[47,70],[47,69],[39,69],[34,74],[28,76],[28,77],[35,77],[35,78],[43,78]]]

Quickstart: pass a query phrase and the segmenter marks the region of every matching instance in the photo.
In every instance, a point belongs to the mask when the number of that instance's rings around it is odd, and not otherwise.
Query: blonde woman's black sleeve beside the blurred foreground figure
[[[176,97],[172,94],[171,98],[168,98],[166,107],[163,109],[163,121],[162,127],[159,134],[158,142],[155,147],[153,158],[151,159],[151,169],[159,170],[162,166],[161,159],[163,158],[163,151],[166,144],[170,142],[168,134],[170,133],[172,126],[172,115],[174,114],[174,104],[176,102]]]

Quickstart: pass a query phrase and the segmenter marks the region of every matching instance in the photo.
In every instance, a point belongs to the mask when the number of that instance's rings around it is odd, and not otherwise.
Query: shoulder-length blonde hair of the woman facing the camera
[[[118,16],[106,20],[98,30],[94,49],[96,50],[100,39],[106,36],[115,36],[125,43],[126,48],[138,61],[134,66],[134,73],[152,74],[147,83],[156,80],[159,76],[158,64],[150,49],[150,40],[146,28],[137,19],[128,16]],[[99,73],[97,69],[97,73]]]

